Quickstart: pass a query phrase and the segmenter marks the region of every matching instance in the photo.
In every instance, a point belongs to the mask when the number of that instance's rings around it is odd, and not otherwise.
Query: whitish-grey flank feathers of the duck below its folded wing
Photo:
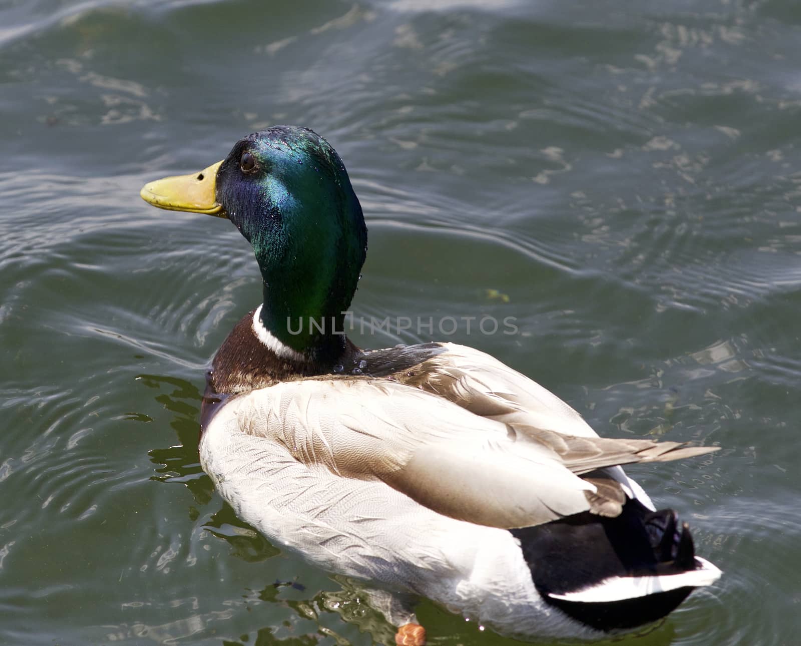
[[[200,460],[236,515],[325,571],[437,600],[506,634],[598,634],[549,608],[509,531],[450,519],[384,482],[309,468],[239,430],[237,398],[203,433]]]

